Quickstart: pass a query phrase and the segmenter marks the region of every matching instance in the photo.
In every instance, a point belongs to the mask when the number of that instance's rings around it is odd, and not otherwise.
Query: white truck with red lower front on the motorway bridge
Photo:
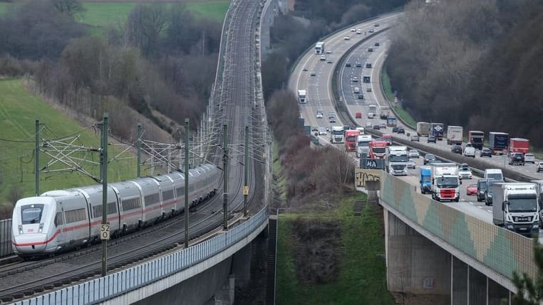
[[[432,199],[460,200],[460,178],[455,163],[432,164]]]

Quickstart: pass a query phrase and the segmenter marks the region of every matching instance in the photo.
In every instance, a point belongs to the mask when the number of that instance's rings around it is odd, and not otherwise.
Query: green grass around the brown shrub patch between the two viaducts
[[[343,259],[339,278],[332,284],[307,285],[298,281],[291,224],[299,215],[280,214],[277,304],[395,304],[386,288],[383,229],[378,220],[381,216],[372,208],[366,208],[362,216],[353,216],[353,199],[346,198],[337,210],[320,215],[341,221]]]

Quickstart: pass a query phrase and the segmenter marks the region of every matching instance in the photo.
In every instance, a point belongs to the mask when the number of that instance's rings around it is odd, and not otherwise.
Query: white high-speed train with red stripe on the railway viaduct
[[[191,208],[214,196],[221,173],[204,164],[189,171]],[[113,236],[152,225],[185,209],[185,174],[108,183],[107,214]],[[11,242],[16,255],[33,257],[86,245],[100,238],[102,186],[48,191],[17,201]]]

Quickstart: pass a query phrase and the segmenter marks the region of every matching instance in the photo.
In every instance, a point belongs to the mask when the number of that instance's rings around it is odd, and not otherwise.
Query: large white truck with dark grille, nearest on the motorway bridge
[[[492,222],[528,237],[539,233],[535,183],[492,183]]]

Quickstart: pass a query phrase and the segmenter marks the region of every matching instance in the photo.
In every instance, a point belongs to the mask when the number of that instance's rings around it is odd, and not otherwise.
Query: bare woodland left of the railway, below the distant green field
[[[76,0],[14,6],[0,18],[0,75],[30,75],[38,93],[79,114],[100,120],[109,112],[123,139],[133,138],[135,114],[162,129],[147,134],[158,141],[185,117],[195,126],[210,96],[222,24],[180,3],[139,4],[125,24],[98,37],[74,19],[82,9]]]

